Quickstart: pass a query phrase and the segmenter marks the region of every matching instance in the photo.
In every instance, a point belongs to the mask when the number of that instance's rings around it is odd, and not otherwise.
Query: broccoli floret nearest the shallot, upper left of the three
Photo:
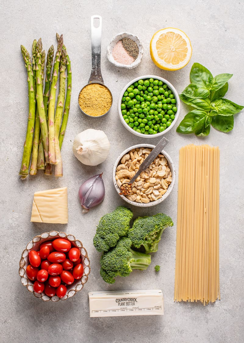
[[[108,251],[115,247],[120,237],[127,236],[132,217],[131,210],[124,206],[102,216],[93,238],[95,248],[98,251]]]

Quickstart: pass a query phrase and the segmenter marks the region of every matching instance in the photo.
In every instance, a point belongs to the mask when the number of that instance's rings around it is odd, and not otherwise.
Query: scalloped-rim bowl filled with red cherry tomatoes
[[[22,285],[44,301],[73,297],[83,288],[89,273],[86,249],[75,236],[64,232],[35,236],[20,259]]]

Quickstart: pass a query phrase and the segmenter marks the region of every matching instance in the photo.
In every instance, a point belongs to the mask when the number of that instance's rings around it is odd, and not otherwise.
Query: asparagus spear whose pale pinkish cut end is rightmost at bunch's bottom
[[[63,176],[63,163],[59,148],[58,135],[60,131],[61,121],[63,117],[64,100],[65,100],[65,80],[66,80],[66,51],[62,50],[60,69],[59,69],[59,94],[55,113],[54,129],[55,129],[55,158],[54,175]]]

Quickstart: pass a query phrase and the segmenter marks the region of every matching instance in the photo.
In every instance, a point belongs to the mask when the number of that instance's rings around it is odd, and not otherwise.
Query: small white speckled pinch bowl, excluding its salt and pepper
[[[121,40],[122,38],[125,38],[125,37],[128,37],[128,38],[134,40],[134,42],[137,44],[138,49],[139,49],[139,54],[138,54],[137,59],[131,64],[122,64],[122,63],[115,61],[115,59],[113,58],[113,54],[112,54],[113,48],[115,47],[115,45],[119,42],[119,40]],[[129,32],[118,33],[118,35],[116,35],[112,38],[111,42],[109,43],[109,45],[107,47],[107,57],[108,57],[109,62],[111,62],[114,66],[120,67],[120,68],[133,69],[133,68],[137,67],[138,64],[142,60],[142,55],[143,55],[143,47],[142,47],[142,44],[141,44],[139,38],[136,37],[135,35],[133,35],[132,33],[129,33]]]

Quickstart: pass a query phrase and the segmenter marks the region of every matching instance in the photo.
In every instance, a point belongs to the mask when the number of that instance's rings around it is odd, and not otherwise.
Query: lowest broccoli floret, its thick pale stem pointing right
[[[133,269],[145,270],[151,263],[151,255],[131,249],[131,240],[122,237],[116,247],[104,252],[100,274],[107,283],[114,283],[116,276],[129,276]]]

